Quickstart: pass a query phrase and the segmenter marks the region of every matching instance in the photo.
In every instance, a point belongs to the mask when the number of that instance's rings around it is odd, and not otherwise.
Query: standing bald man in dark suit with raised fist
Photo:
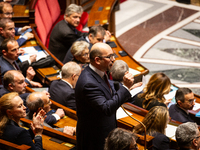
[[[116,92],[109,84],[106,71],[115,60],[111,47],[96,43],[90,52],[90,64],[75,87],[77,106],[77,149],[103,150],[105,138],[116,128],[116,110],[131,97],[133,75],[124,76],[124,85]]]

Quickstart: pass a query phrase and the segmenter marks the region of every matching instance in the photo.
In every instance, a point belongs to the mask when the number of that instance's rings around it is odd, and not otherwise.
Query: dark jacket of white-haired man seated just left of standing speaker
[[[63,80],[53,81],[49,93],[52,100],[76,110],[75,91]]]

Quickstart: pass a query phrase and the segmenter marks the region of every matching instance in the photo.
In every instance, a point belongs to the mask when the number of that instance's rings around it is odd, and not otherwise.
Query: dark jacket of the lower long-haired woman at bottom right
[[[153,137],[153,150],[168,150],[170,148],[170,140],[166,135],[156,132]]]

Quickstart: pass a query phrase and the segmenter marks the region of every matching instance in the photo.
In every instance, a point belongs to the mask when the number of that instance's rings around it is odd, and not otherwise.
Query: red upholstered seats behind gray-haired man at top
[[[87,23],[88,16],[87,12],[83,12],[77,30],[82,31]],[[35,4],[36,31],[40,40],[47,48],[53,27],[63,18],[64,14],[61,14],[58,0],[37,0]]]

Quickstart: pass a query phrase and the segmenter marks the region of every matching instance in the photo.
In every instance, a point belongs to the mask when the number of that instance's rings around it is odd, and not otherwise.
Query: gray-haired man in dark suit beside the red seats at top
[[[82,32],[76,29],[82,13],[81,6],[76,4],[69,5],[65,11],[64,20],[58,22],[51,32],[49,50],[61,62],[73,42],[83,35]]]

